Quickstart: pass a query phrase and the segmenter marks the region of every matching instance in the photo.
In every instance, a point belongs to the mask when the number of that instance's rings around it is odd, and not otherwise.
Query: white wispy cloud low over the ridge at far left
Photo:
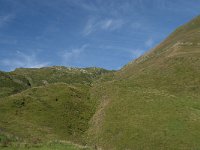
[[[21,51],[17,51],[12,58],[2,59],[1,64],[8,67],[9,70],[15,68],[41,68],[49,65],[49,62],[42,62],[38,60],[35,53],[26,54]]]

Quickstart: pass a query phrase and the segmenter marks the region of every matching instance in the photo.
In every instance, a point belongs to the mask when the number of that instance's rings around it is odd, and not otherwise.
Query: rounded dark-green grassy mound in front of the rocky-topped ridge
[[[28,143],[82,142],[96,103],[89,88],[64,83],[35,87],[0,102],[0,129]]]

